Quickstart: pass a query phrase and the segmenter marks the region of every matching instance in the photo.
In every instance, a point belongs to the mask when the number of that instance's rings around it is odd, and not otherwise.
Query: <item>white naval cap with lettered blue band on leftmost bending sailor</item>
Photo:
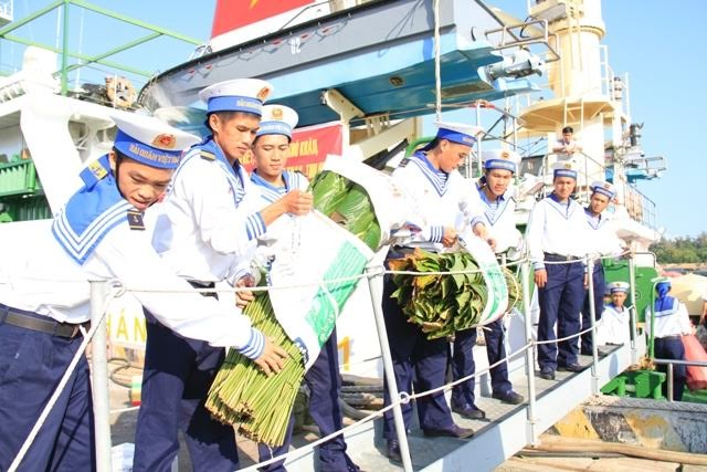
[[[126,157],[150,167],[177,168],[182,150],[201,140],[154,116],[131,114],[112,118],[118,127],[114,147]]]

